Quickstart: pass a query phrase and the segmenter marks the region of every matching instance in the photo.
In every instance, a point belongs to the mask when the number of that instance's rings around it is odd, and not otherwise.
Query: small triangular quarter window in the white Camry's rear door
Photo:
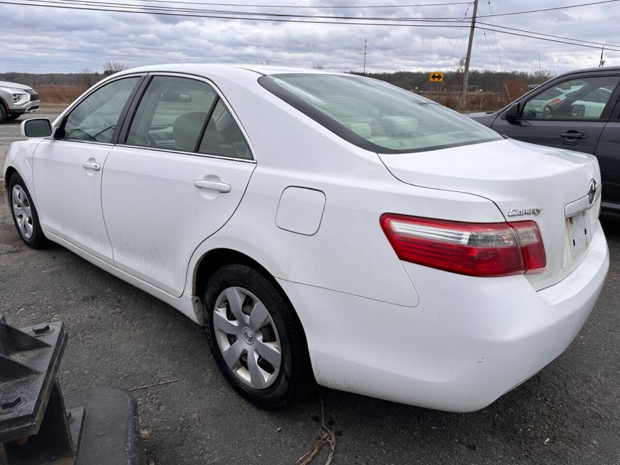
[[[198,152],[251,160],[252,152],[231,112],[221,100],[215,105]]]

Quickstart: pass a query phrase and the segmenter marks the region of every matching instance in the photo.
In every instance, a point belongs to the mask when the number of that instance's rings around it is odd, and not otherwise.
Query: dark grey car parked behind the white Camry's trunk
[[[620,212],[620,66],[571,71],[472,119],[513,139],[594,154],[603,208]]]

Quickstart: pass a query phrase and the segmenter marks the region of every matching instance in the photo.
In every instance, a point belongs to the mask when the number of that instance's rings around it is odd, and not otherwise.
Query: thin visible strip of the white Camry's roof
[[[263,76],[267,74],[342,74],[336,71],[324,71],[314,68],[294,68],[292,66],[274,66],[268,64],[237,64],[237,63],[169,63],[169,64],[153,64],[150,66],[141,66],[139,68],[126,69],[122,74],[129,73],[145,73],[145,72],[167,72],[167,73],[189,73],[198,76],[208,77],[210,74],[216,73],[219,76],[232,77],[245,70],[248,73],[257,73]],[[121,74],[121,73],[119,73]]]

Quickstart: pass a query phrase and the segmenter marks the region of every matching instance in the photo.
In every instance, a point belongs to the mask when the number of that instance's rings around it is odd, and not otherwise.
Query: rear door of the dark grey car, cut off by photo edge
[[[595,156],[603,181],[603,208],[620,211],[620,100],[605,125]]]

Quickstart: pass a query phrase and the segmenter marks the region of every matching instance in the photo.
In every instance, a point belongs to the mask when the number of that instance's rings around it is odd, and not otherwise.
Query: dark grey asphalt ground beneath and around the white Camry
[[[603,224],[609,277],[564,354],[472,414],[323,389],[334,465],[620,464],[620,218]],[[200,327],[62,247],[28,249],[1,205],[0,273],[11,324],[66,323],[66,392],[177,380],[134,392],[151,463],[294,464],[321,435],[316,393],[278,412],[252,407],[219,375]]]

